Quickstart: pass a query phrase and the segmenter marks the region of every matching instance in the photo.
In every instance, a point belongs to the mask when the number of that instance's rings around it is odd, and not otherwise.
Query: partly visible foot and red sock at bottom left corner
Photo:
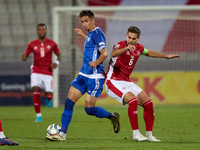
[[[2,128],[2,123],[0,120],[0,145],[19,145],[17,142],[15,141],[11,141],[8,137],[5,137],[4,133],[3,133],[3,128]]]

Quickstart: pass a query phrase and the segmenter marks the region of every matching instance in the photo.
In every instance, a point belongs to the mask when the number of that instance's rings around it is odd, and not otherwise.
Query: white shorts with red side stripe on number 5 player
[[[125,105],[123,98],[124,95],[128,92],[132,92],[135,96],[137,96],[142,89],[134,84],[133,82],[128,81],[118,81],[118,80],[106,80],[106,91],[108,95],[117,101],[119,101],[121,104]]]

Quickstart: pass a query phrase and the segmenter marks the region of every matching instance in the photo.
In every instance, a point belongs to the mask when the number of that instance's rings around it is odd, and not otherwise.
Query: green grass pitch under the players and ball
[[[7,137],[19,146],[0,146],[4,150],[197,150],[200,149],[200,106],[154,106],[153,134],[161,142],[133,142],[127,106],[102,106],[110,112],[119,112],[121,130],[113,131],[108,119],[99,119],[85,113],[83,106],[75,106],[65,142],[45,139],[50,124],[61,125],[64,107],[41,108],[43,121],[35,122],[32,106],[0,107],[0,118]],[[145,135],[143,109],[138,107],[140,132]]]

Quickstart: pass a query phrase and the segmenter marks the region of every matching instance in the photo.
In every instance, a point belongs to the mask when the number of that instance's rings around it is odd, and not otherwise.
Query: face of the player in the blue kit
[[[87,32],[90,32],[95,28],[94,19],[91,19],[88,16],[81,17],[81,23]]]

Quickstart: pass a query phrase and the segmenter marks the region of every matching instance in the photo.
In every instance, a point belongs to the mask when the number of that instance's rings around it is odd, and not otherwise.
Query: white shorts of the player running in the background
[[[39,73],[31,74],[31,87],[39,86],[45,92],[53,92],[53,77]]]

